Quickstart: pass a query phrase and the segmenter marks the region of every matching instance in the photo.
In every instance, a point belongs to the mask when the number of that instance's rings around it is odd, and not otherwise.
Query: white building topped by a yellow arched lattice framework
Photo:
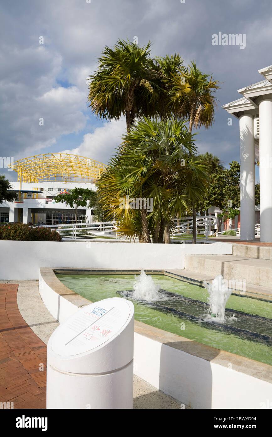
[[[53,225],[76,220],[75,210],[55,197],[75,187],[96,190],[104,166],[84,156],[47,153],[16,161],[12,168],[18,173],[18,181],[11,182],[18,199],[0,204],[0,222]],[[90,208],[78,207],[77,221],[91,222],[91,214]]]

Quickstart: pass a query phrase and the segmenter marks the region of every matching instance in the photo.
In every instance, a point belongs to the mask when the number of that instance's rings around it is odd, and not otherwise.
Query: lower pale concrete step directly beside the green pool
[[[186,270],[272,288],[272,260],[235,255],[186,255]]]

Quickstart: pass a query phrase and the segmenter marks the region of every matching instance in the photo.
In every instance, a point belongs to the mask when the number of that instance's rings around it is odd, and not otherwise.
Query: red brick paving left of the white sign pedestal
[[[46,408],[46,345],[22,318],[17,290],[17,284],[0,284],[0,402]]]

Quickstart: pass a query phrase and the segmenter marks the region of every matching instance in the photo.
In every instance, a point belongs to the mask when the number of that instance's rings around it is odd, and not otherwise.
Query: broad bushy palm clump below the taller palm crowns
[[[144,243],[151,243],[152,236],[153,243],[160,243],[172,217],[189,212],[192,201],[202,200],[207,173],[195,151],[185,121],[145,118],[124,136],[98,183],[103,208],[114,212],[123,235],[138,236]],[[151,198],[154,208],[120,208],[120,198],[126,196]]]

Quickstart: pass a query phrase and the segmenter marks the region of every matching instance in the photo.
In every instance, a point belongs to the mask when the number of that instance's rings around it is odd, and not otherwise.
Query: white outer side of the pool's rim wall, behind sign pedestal
[[[59,316],[61,323],[78,310],[77,305],[65,302],[65,296],[59,296],[48,286],[42,275],[39,290],[49,312],[55,319]],[[180,337],[180,341],[184,340]],[[233,361],[234,355],[229,356],[230,362]],[[267,399],[271,402],[272,399],[272,384],[269,382],[136,332],[134,374],[194,409],[259,409],[262,402],[266,403]]]

